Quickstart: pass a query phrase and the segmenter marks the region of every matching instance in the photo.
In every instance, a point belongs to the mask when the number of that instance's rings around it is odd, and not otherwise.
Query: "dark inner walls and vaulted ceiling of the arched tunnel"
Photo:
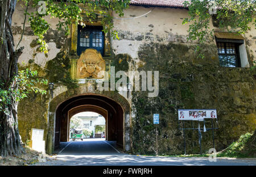
[[[80,112],[96,112],[105,117],[106,140],[116,141],[125,147],[125,111],[122,106],[102,95],[80,95],[69,98],[61,103],[55,111],[54,149],[60,142],[69,140],[69,123],[73,115]]]

